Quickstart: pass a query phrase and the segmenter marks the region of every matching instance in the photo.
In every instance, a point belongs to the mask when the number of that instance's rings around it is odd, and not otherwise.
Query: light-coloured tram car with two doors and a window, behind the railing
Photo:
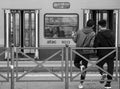
[[[0,51],[2,47],[21,47],[23,53],[44,60],[56,51],[49,48],[66,44],[74,47],[72,34],[83,28],[88,19],[96,22],[95,32],[97,22],[105,19],[107,28],[115,32],[116,47],[120,45],[120,0],[1,0]]]

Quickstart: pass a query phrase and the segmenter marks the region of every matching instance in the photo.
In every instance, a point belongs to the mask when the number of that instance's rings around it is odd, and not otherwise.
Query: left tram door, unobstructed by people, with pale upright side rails
[[[38,47],[38,10],[7,9],[5,16],[5,47]],[[38,50],[21,49],[38,57]]]

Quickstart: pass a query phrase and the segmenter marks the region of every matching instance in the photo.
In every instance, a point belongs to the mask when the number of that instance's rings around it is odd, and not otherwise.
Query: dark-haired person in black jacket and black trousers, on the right
[[[106,20],[101,20],[98,22],[99,32],[97,33],[94,40],[94,47],[114,47],[115,46],[115,37],[113,35],[113,31],[107,29]],[[108,53],[110,53],[113,49],[97,49],[98,59],[101,59]],[[107,64],[107,72],[113,75],[114,69],[114,57],[115,53],[107,56],[103,60],[97,63],[97,65],[103,69],[104,64]],[[106,75],[102,70],[100,70],[101,74],[101,83],[104,83],[104,79],[107,77],[108,80],[112,80],[110,75]],[[105,84],[105,88],[111,88],[111,81],[107,81]]]

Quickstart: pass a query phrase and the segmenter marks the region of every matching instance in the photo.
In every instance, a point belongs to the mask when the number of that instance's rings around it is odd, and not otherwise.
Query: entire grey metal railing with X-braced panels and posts
[[[29,55],[27,55],[26,53],[22,52],[21,49],[34,49],[34,50],[40,50],[40,49],[57,49],[56,52],[54,52],[51,56],[49,56],[48,58],[45,58],[42,61],[36,61],[35,58],[30,57]],[[113,49],[110,53],[108,53],[107,55],[105,55],[104,57],[102,57],[101,59],[99,59],[96,62],[91,62],[89,59],[85,58],[84,56],[82,56],[80,53],[78,53],[77,51],[75,51],[76,49]],[[16,50],[16,51],[15,51]],[[69,47],[69,45],[65,45],[65,47],[39,47],[39,48],[19,48],[19,47],[11,47],[9,49],[5,49],[5,51],[3,51],[2,53],[0,53],[0,55],[4,54],[7,51],[7,56],[9,57],[10,54],[10,58],[7,58],[7,77],[0,74],[0,76],[2,76],[4,79],[6,79],[7,81],[10,79],[11,80],[11,89],[14,89],[15,86],[15,82],[64,82],[65,83],[65,89],[69,89],[69,82],[70,81],[76,81],[74,80],[77,76],[79,76],[80,74],[82,74],[83,72],[87,71],[90,67],[95,66],[96,68],[102,70],[103,72],[105,72],[106,74],[110,75],[113,80],[117,81],[118,80],[118,48],[116,47],[103,47],[103,48],[76,48],[76,47]],[[97,63],[99,63],[100,61],[104,60],[106,57],[108,57],[109,55],[113,54],[116,52],[116,60],[115,60],[115,76],[111,75],[110,73],[108,73],[106,70],[100,68]],[[19,63],[21,62],[20,57],[18,56],[18,54],[21,53],[22,55],[24,55],[29,62],[33,62],[34,66],[32,66],[32,68],[30,67],[30,69],[26,72],[23,72],[21,74],[21,72],[19,71],[19,67],[21,67],[22,65]],[[72,62],[72,58],[73,58],[73,53],[77,54],[78,56],[82,57],[84,60],[88,61],[88,63],[91,64],[91,66],[79,73],[77,73],[75,76],[73,76],[73,70],[72,68],[74,67]],[[51,71],[49,68],[47,68],[44,64],[47,61],[50,61],[53,57],[55,57],[56,55],[61,54],[61,75],[58,75],[57,73]],[[70,58],[70,60],[69,60]],[[11,59],[11,60],[10,60]],[[69,64],[70,62],[70,64]],[[29,66],[27,66],[29,67]],[[27,74],[33,72],[34,70],[36,70],[37,68],[43,68],[44,70],[47,70],[47,72],[49,72],[50,74],[52,74],[54,77],[58,78],[57,80],[53,80],[53,79],[40,79],[40,80],[28,80],[28,79],[23,79],[26,77]],[[70,71],[69,71],[70,69]],[[10,77],[9,77],[9,73],[10,73]],[[69,81],[70,80],[70,81]],[[113,81],[112,80],[112,81]],[[80,81],[80,80],[79,80]],[[86,80],[85,80],[86,81]],[[91,81],[91,80],[90,80]],[[99,80],[97,80],[99,81]],[[108,80],[105,80],[108,81]]]

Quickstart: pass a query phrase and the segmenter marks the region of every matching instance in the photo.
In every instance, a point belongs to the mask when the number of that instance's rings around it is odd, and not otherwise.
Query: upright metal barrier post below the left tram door
[[[11,89],[14,89],[14,48],[13,47],[11,47],[10,52],[11,52],[11,65],[10,65],[10,69],[11,69]]]

